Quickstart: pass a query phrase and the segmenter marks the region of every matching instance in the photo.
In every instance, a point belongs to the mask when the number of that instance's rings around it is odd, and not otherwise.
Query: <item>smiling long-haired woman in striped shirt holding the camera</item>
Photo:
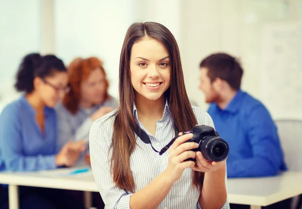
[[[90,130],[91,165],[105,208],[229,208],[225,161],[208,162],[197,143],[178,137],[195,125],[213,127],[209,115],[191,107],[180,53],[171,32],[159,23],[135,23],[120,56],[120,107]],[[145,132],[150,147],[137,135]],[[181,135],[181,133],[180,133]],[[154,148],[155,147],[155,148]],[[152,149],[154,148],[154,149]],[[196,158],[185,161],[187,158]]]

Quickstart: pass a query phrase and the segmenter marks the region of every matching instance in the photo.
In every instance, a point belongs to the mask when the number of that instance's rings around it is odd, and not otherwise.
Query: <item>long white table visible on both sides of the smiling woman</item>
[[[62,176],[74,168],[41,172],[2,172],[0,183],[9,184],[10,209],[18,209],[18,185],[45,188],[96,191],[92,171]],[[252,209],[261,208],[302,193],[302,172],[284,172],[273,177],[228,179],[230,203],[248,204]],[[87,198],[89,198],[89,193]],[[89,206],[89,202],[87,204]]]

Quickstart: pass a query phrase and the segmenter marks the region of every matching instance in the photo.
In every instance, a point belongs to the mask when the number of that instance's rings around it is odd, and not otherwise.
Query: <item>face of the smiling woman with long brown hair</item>
[[[143,38],[133,44],[130,57],[131,84],[135,97],[161,98],[171,82],[168,50],[156,39]]]

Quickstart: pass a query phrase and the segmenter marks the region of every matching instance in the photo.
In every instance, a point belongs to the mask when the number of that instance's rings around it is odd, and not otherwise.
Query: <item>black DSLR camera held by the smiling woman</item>
[[[184,134],[193,134],[193,138],[186,142],[196,142],[199,147],[192,151],[200,151],[208,161],[222,161],[228,157],[230,153],[229,145],[223,139],[219,138],[219,134],[210,126],[195,126],[191,131]],[[175,137],[174,139],[180,136]],[[174,140],[173,140],[174,141]],[[185,161],[196,159],[188,158]]]

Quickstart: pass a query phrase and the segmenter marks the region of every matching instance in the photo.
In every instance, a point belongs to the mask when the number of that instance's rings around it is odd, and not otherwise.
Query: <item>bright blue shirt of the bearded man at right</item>
[[[271,176],[286,170],[277,128],[259,100],[239,89],[224,110],[211,104],[208,113],[230,146],[228,177]]]

